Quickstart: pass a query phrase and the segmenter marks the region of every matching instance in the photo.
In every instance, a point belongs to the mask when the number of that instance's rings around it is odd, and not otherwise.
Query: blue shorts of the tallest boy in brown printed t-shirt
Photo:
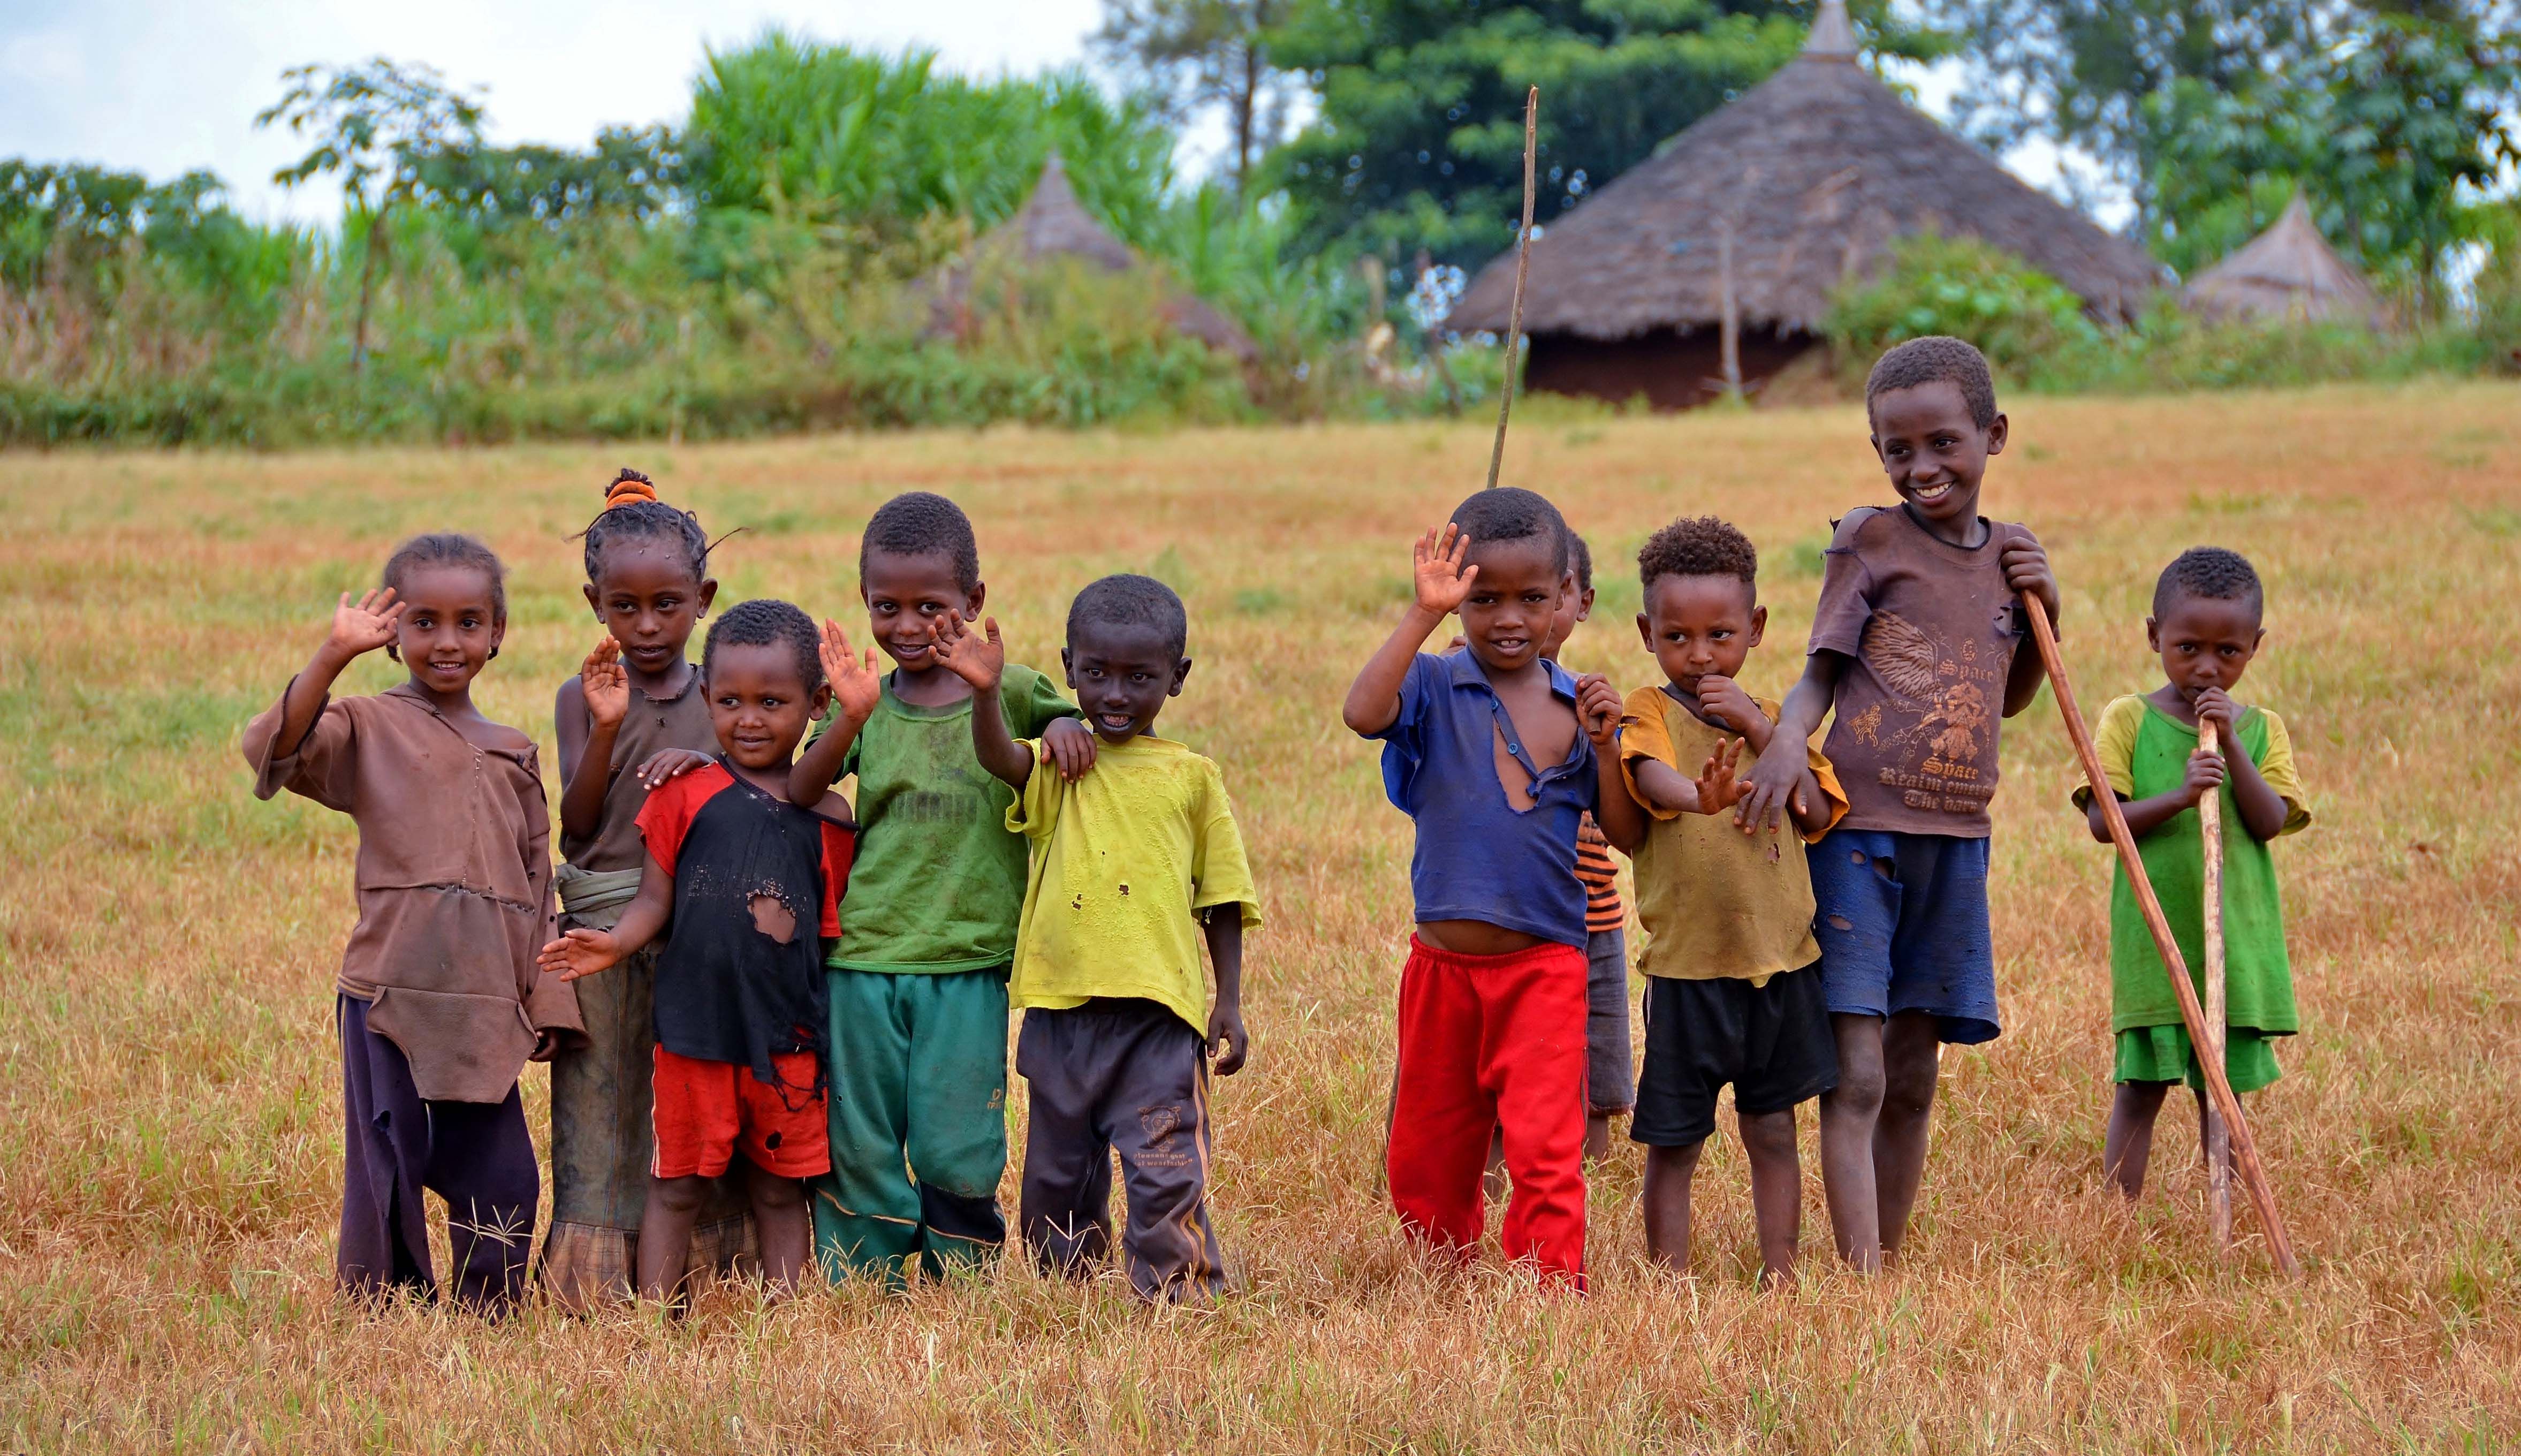
[[[1833,1014],[1929,1012],[1946,1042],[1997,1040],[1987,840],[1830,830],[1810,860]]]

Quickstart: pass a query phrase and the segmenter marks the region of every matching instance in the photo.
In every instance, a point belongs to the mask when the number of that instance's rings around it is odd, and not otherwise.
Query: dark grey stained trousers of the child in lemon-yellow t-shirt
[[[1112,1257],[1112,1153],[1129,1221],[1122,1264],[1147,1300],[1225,1289],[1208,1219],[1208,1047],[1157,1002],[1097,997],[1024,1012],[1016,1072],[1031,1093],[1024,1136],[1024,1242],[1044,1267],[1082,1274]]]

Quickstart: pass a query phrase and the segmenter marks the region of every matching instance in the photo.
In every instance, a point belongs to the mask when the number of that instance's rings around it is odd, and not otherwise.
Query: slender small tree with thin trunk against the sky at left
[[[376,265],[391,237],[386,220],[418,194],[424,159],[482,141],[482,103],[449,91],[429,66],[398,66],[383,56],[366,66],[292,66],[280,78],[287,91],[255,116],[255,126],[277,121],[310,136],[315,149],[272,172],[272,182],[297,187],[310,177],[338,177],[343,204],[366,242],[350,336],[350,371],[358,373],[368,363]]]

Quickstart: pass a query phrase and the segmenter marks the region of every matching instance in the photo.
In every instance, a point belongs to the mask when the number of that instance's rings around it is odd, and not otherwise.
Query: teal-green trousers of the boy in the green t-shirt
[[[1006,1244],[1006,966],[827,972],[832,1171],[814,1178],[829,1277],[976,1264]]]

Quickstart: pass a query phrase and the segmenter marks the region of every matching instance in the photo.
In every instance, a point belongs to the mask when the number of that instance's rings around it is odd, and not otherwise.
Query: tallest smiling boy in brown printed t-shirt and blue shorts
[[[1941,1042],[1999,1030],[1987,800],[1999,714],[2039,691],[2017,598],[2055,618],[2057,578],[2027,527],[1979,515],[2007,421],[1976,348],[1936,336],[1883,353],[1866,419],[1901,505],[1838,522],[1777,732],[1803,739],[1835,714],[1825,752],[1848,815],[1810,853],[1838,1040],[1820,1178],[1840,1257],[1876,1269],[1898,1257],[1926,1171]],[[1737,818],[1775,830],[1800,775],[1787,754],[1762,757]]]

